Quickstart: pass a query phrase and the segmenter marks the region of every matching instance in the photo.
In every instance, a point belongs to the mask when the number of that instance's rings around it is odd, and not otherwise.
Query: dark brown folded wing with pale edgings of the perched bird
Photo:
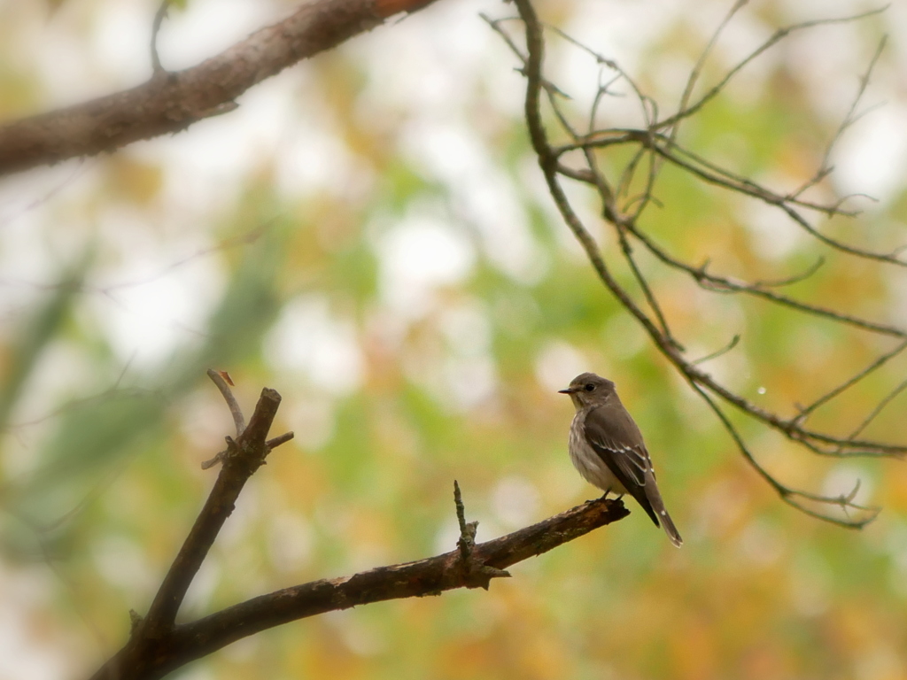
[[[610,423],[614,425],[615,423]],[[623,423],[619,423],[623,424]],[[610,432],[603,426],[599,418],[586,417],[585,423],[586,439],[589,441],[592,449],[599,454],[608,469],[618,478],[624,489],[639,501],[643,510],[649,513],[649,517],[655,522],[655,526],[660,526],[658,516],[652,508],[649,494],[646,492],[646,484],[655,484],[655,473],[652,471],[652,461],[649,458],[649,452],[645,444],[641,443],[641,435],[636,431],[636,436],[620,436],[623,432],[618,429],[616,432]],[[630,432],[627,432],[629,435]],[[633,441],[639,439],[639,444],[630,445],[624,443],[624,440]]]

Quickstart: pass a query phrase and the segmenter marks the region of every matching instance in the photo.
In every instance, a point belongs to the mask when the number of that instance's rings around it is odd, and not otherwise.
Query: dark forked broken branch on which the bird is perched
[[[216,374],[216,373],[215,373]],[[217,381],[215,380],[217,383]],[[224,385],[226,385],[224,383]],[[222,389],[221,385],[218,384]],[[227,386],[229,393],[229,386]],[[230,394],[232,397],[232,394]],[[228,403],[229,403],[228,399]],[[249,426],[219,454],[223,466],[157,596],[144,618],[132,613],[132,635],[125,646],[92,676],[93,680],[154,680],[232,642],[300,618],[404,597],[440,595],[454,588],[485,588],[504,569],[541,555],[593,529],[629,515],[619,500],[593,500],[531,527],[484,543],[475,542],[478,522],[467,522],[460,486],[454,504],[460,524],[457,548],[433,558],[379,567],[344,578],[325,578],[253,597],[185,624],[175,618],[192,578],[232,512],[239,492],[278,443],[293,433],[266,441],[280,403],[265,388]]]

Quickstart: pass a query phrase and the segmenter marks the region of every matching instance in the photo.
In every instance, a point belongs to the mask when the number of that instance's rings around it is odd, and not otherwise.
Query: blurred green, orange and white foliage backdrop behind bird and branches
[[[292,10],[189,0],[160,38],[171,69]],[[855,0],[756,0],[717,44],[714,82],[779,25]],[[545,0],[543,17],[615,58],[663,109],[729,3]],[[0,118],[141,82],[156,4],[0,0]],[[0,678],[77,677],[145,610],[230,432],[204,377],[229,370],[247,409],[283,395],[296,439],[258,471],[183,609],[452,549],[453,479],[479,538],[591,498],[566,453],[583,370],[614,379],[646,433],[670,546],[645,515],[518,565],[490,592],[388,602],[243,640],[180,671],[208,678],[907,677],[907,471],[817,460],[745,424],[759,460],[808,491],[883,506],[863,531],[790,509],[600,287],[553,211],[522,124],[522,76],[479,17],[424,12],[302,63],[239,110],[108,157],[0,180]],[[907,8],[798,34],[688,124],[697,151],[782,189],[812,175],[883,34],[825,196],[863,192],[829,228],[905,241]],[[597,68],[550,46],[584,111]],[[708,79],[711,79],[709,81]],[[603,113],[630,116],[615,98]],[[629,120],[629,118],[627,119]],[[835,257],[778,215],[667,172],[644,226],[695,262],[751,278],[828,265],[792,294],[904,324],[907,278]],[[577,191],[594,223],[595,204]],[[592,226],[606,253],[614,240]],[[885,349],[879,338],[727,296],[644,261],[709,370],[793,413]],[[848,432],[907,374],[894,363],[817,424]],[[761,401],[760,401],[761,400]],[[873,436],[903,442],[907,399]]]

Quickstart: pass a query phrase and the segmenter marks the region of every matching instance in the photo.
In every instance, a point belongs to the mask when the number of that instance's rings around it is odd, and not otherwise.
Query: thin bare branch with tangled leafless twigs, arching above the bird
[[[541,24],[537,15],[535,15],[531,0],[515,0],[515,4],[519,10],[519,20],[522,21],[525,27],[525,49],[518,46],[512,36],[502,27],[503,22],[512,22],[512,18],[499,20],[486,18],[486,21],[492,25],[497,33],[504,36],[505,42],[511,46],[512,52],[516,54],[522,63],[521,72],[526,77],[527,82],[524,114],[530,140],[532,141],[532,149],[538,157],[551,197],[554,199],[562,219],[564,219],[574,236],[579,240],[580,246],[585,250],[602,284],[610,291],[611,295],[617,298],[620,305],[642,325],[658,351],[668,359],[670,364],[673,364],[687,380],[688,384],[702,396],[727,429],[746,461],[777,491],[785,502],[814,517],[832,521],[846,527],[859,528],[866,522],[871,521],[877,509],[855,504],[853,498],[856,490],[843,496],[823,496],[791,489],[775,479],[756,460],[743,435],[736,424],[727,416],[721,403],[733,406],[738,412],[746,414],[746,416],[776,432],[780,432],[786,438],[805,447],[807,450],[821,455],[837,457],[902,457],[907,453],[907,445],[857,439],[857,437],[882,411],[883,407],[890,403],[894,396],[902,392],[907,383],[899,384],[888,393],[883,400],[873,407],[871,412],[864,418],[863,423],[849,435],[816,430],[807,427],[806,422],[809,416],[821,409],[825,404],[847,392],[854,384],[862,381],[863,378],[872,374],[883,364],[902,355],[904,350],[907,349],[907,342],[905,342],[907,341],[907,328],[865,319],[841,309],[814,305],[777,291],[779,287],[789,286],[813,276],[824,264],[824,257],[820,258],[817,264],[810,267],[805,273],[794,277],[786,277],[775,281],[746,282],[736,277],[714,274],[707,270],[707,263],[694,265],[685,261],[682,257],[678,257],[669,248],[662,246],[655,238],[651,237],[640,226],[639,219],[644,210],[650,204],[656,202],[652,194],[658,179],[658,172],[661,165],[668,162],[680,170],[687,171],[691,176],[699,180],[763,201],[779,209],[783,216],[792,220],[799,228],[803,228],[806,233],[818,242],[831,248],[838,257],[857,257],[896,267],[907,267],[907,260],[901,257],[902,248],[891,252],[876,252],[851,243],[844,243],[820,231],[805,217],[804,212],[806,210],[827,217],[853,217],[855,213],[842,209],[844,199],[840,199],[833,204],[823,204],[802,198],[806,189],[824,180],[831,172],[828,167],[828,158],[834,143],[840,139],[844,130],[862,115],[862,113],[857,113],[857,108],[866,90],[873,67],[878,62],[883,44],[880,44],[873,54],[873,58],[861,78],[860,87],[853,99],[853,103],[825,150],[822,167],[816,171],[813,178],[798,189],[787,193],[767,189],[754,180],[721,168],[716,163],[702,158],[697,153],[681,146],[677,140],[680,122],[701,111],[708,102],[714,100],[724,91],[727,83],[747,63],[756,59],[760,54],[765,53],[766,50],[784,40],[788,35],[818,25],[855,21],[869,15],[878,14],[882,10],[874,10],[873,12],[854,15],[853,17],[810,21],[779,29],[765,43],[758,45],[752,53],[737,63],[717,85],[712,86],[704,95],[690,103],[694,86],[701,75],[708,53],[712,51],[722,29],[736,12],[746,4],[738,0],[718,27],[716,34],[707,44],[705,52],[693,67],[677,112],[659,119],[658,106],[654,100],[642,92],[639,85],[617,63],[596,53],[586,45],[578,43],[560,30]],[[576,131],[576,127],[569,122],[570,116],[563,111],[563,98],[552,95],[552,92],[560,92],[557,89],[557,85],[552,85],[544,76],[542,66],[546,30],[550,30],[552,34],[565,38],[571,45],[590,54],[600,64],[603,72],[607,71],[613,74],[612,77],[607,78],[600,76],[598,92],[592,103],[588,125],[586,125],[587,131],[583,134],[579,134]],[[630,92],[637,98],[643,126],[639,128],[600,129],[597,123],[597,114],[605,96],[612,93],[610,88],[619,81],[626,83]],[[560,131],[569,140],[566,143],[555,145],[551,142],[542,117],[541,108],[543,102],[548,102],[551,106],[554,120],[557,121]],[[620,171],[619,180],[612,181],[600,169],[599,159],[603,154],[625,147],[630,148],[630,160],[622,161],[623,169]],[[581,152],[584,167],[570,167],[562,160],[565,154],[570,151]],[[576,158],[576,155],[574,154],[571,158]],[[614,162],[618,166],[621,164],[619,159],[615,159]],[[639,181],[635,181],[640,171],[645,172],[645,174]],[[639,296],[641,296],[640,302],[637,302],[629,287],[619,282],[618,278],[613,274],[610,265],[606,263],[598,244],[591,237],[589,229],[586,228],[576,210],[571,206],[571,200],[568,199],[561,184],[563,178],[587,184],[598,194],[601,203],[601,214],[616,232],[620,246],[619,255],[629,267],[633,284],[638,288]],[[634,184],[641,184],[642,188],[638,194],[630,195],[629,188]],[[634,251],[636,247],[641,247],[644,251],[649,252],[650,255],[655,257],[657,263],[668,267],[669,270],[688,275],[699,287],[709,292],[753,296],[764,300],[766,303],[786,307],[795,313],[817,316],[834,325],[876,335],[889,336],[900,342],[890,346],[887,350],[881,351],[870,364],[845,377],[837,386],[810,405],[798,407],[795,415],[785,417],[781,413],[775,413],[757,406],[756,403],[749,401],[742,394],[734,392],[724,384],[720,384],[712,375],[707,374],[699,367],[699,364],[733,349],[736,341],[713,355],[708,355],[701,359],[688,358],[686,350],[670,328],[668,318],[662,309],[656,290],[649,284],[649,272],[639,265]],[[844,510],[844,517],[829,514],[832,508]],[[849,510],[857,510],[858,516],[852,517],[848,514]]]

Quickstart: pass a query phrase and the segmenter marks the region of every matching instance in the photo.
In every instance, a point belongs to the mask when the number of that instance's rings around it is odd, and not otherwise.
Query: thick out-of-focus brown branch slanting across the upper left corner
[[[240,94],[288,66],[432,2],[309,0],[197,66],[165,72],[155,59],[151,79],[138,87],[0,127],[0,175],[185,130],[232,111]]]

